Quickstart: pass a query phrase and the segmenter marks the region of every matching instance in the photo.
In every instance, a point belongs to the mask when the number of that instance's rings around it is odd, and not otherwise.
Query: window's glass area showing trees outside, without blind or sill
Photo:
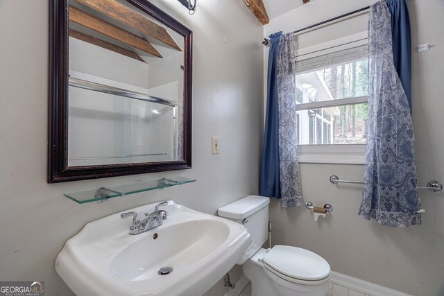
[[[298,143],[366,143],[367,59],[296,75],[296,85]]]

